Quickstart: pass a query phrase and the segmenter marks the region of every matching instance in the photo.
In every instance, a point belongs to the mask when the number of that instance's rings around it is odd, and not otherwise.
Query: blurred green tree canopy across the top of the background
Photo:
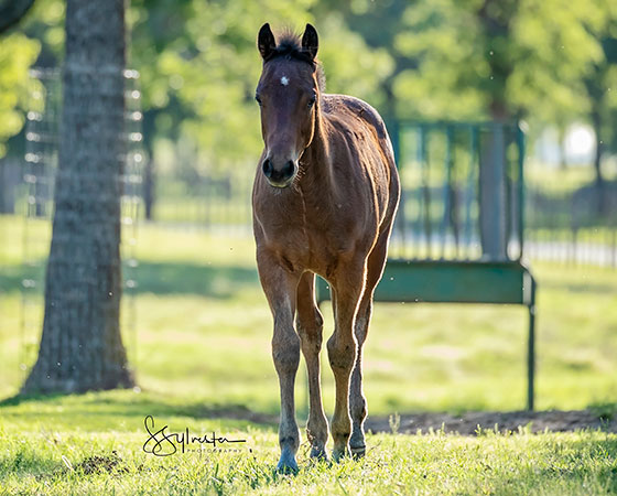
[[[23,122],[28,67],[57,65],[64,1],[36,2],[0,45],[0,143]],[[321,37],[327,89],[388,117],[592,122],[617,115],[610,0],[133,0],[129,66],[141,74],[145,148],[182,140],[195,168],[259,152],[253,91],[263,22]],[[1,150],[1,148],[0,148]]]

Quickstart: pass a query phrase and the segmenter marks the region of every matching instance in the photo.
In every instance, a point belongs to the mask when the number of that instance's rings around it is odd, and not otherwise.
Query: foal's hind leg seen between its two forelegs
[[[324,320],[315,304],[314,284],[314,273],[305,272],[300,279],[295,323],[308,374],[310,410],[306,436],[311,443],[311,457],[327,460],[325,444],[328,436],[328,424],[322,403],[320,384],[320,352]]]

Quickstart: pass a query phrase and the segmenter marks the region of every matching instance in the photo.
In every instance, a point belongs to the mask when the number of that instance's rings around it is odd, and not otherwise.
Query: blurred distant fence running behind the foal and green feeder
[[[195,172],[191,177],[171,173],[156,176],[152,222],[185,229],[250,235],[250,202],[256,169],[257,165],[247,166],[243,173],[237,175]],[[439,214],[443,214],[447,195],[461,205],[458,215],[462,218],[468,215],[473,219],[470,225],[477,224],[477,200],[470,197],[473,188],[454,185],[444,194],[443,184],[429,182],[423,185],[421,177],[416,176],[420,166],[415,170],[409,168],[403,172],[403,201],[398,222],[400,223],[402,217],[401,212],[404,212],[407,238],[421,239],[424,236],[422,233],[425,231],[424,223],[429,217],[435,226],[435,233],[447,222],[444,215]],[[461,177],[461,181],[464,182],[465,177]],[[431,208],[435,211],[435,214],[429,217],[426,212],[421,211],[423,197],[426,196],[433,198]],[[555,192],[538,185],[526,185],[526,258],[567,266],[617,269],[617,187],[607,184],[603,196],[604,204],[599,205],[594,186],[582,186],[572,192]],[[465,228],[466,222],[463,219],[458,234],[462,239],[466,239],[465,242],[468,241],[466,249],[475,256],[479,252],[478,233]],[[511,227],[516,227],[516,222],[511,223]],[[400,245],[400,239],[396,238],[399,235],[400,233],[394,233],[393,241]],[[453,238],[452,229],[447,236]],[[448,241],[451,245],[455,244],[453,239]],[[443,239],[433,234],[433,242],[436,244],[432,248],[433,252],[441,252],[441,241]],[[510,244],[509,248],[516,251],[518,247],[513,245],[516,242]]]

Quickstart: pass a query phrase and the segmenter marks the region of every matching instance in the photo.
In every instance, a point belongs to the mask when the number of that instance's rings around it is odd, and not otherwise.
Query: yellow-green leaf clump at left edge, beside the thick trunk
[[[6,141],[17,134],[24,122],[29,93],[33,89],[28,71],[36,58],[40,44],[20,33],[0,41],[0,158]]]

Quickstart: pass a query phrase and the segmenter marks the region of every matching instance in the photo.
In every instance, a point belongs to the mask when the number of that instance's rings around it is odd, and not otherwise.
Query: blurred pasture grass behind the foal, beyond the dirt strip
[[[8,227],[19,230],[19,223]],[[18,236],[19,237],[19,236]],[[12,249],[12,248],[11,248]],[[258,282],[250,237],[143,225],[137,251],[134,334],[125,343],[140,386],[191,401],[278,412],[270,355],[271,315]],[[36,331],[20,335],[22,274],[4,258],[0,279],[0,397],[23,380]],[[577,409],[617,397],[617,277],[613,270],[535,263],[538,408]],[[12,276],[11,276],[12,274]],[[41,300],[26,309],[41,319]],[[324,305],[325,336],[333,328]],[[516,410],[524,405],[527,313],[504,305],[378,303],[365,352],[371,413]],[[23,356],[22,356],[23,355]],[[324,399],[334,386],[322,355]],[[296,401],[305,405],[304,368]]]

